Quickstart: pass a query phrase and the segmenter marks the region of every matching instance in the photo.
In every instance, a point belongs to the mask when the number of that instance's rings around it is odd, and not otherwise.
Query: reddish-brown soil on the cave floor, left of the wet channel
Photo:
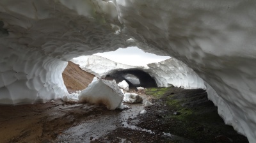
[[[54,140],[68,128],[109,112],[113,113],[98,105],[61,101],[1,106],[0,142],[56,142]]]

